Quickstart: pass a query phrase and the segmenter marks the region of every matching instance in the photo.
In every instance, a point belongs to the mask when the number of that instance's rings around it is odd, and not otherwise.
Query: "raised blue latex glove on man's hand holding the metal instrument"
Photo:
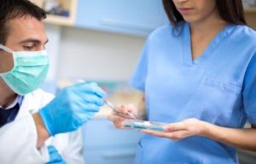
[[[99,111],[104,96],[104,91],[95,82],[79,83],[61,90],[55,99],[39,110],[39,114],[49,135],[71,132]]]

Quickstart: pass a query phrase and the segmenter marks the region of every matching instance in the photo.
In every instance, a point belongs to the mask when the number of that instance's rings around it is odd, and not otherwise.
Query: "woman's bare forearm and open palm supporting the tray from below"
[[[164,127],[164,132],[148,130],[142,130],[142,132],[173,140],[200,135],[223,144],[229,144],[238,149],[256,150],[256,126],[241,129],[228,128],[191,118],[186,119],[183,122],[166,125]]]

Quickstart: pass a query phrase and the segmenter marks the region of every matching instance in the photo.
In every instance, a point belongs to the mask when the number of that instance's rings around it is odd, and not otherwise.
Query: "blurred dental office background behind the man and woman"
[[[50,71],[42,88],[56,93],[80,80],[98,82],[114,105],[137,104],[141,93],[129,87],[148,34],[167,23],[160,0],[32,0],[48,12]],[[256,29],[256,0],[244,0],[248,25]],[[131,164],[141,134],[117,130],[104,106],[83,127],[86,164]],[[88,135],[90,134],[90,135]],[[241,164],[255,164],[240,151]]]

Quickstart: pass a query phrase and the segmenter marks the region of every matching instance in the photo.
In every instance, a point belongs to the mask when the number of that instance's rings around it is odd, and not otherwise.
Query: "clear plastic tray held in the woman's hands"
[[[134,129],[146,129],[146,130],[154,130],[154,131],[164,131],[164,126],[166,123],[162,122],[148,122],[143,120],[125,120],[123,122],[123,126],[126,128],[134,128]]]

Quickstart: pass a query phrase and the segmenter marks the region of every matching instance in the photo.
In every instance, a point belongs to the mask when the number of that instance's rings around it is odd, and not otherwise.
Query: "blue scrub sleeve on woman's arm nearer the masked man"
[[[131,76],[130,84],[132,87],[145,91],[145,81],[148,74],[148,41],[144,44],[143,51],[137,62],[137,68]]]

